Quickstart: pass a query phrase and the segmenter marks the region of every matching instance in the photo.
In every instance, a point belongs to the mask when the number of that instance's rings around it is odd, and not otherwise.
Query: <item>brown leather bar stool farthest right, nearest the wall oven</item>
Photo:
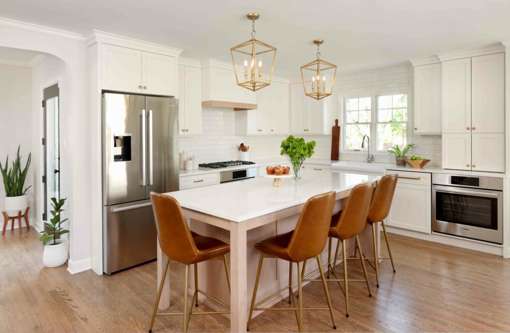
[[[370,210],[368,212],[367,222],[372,225],[372,237],[374,244],[374,258],[366,258],[372,259],[374,261],[374,266],[368,261],[370,266],[375,269],[375,281],[376,286],[379,288],[379,260],[391,260],[391,266],[393,267],[393,273],[395,273],[395,265],[393,264],[393,256],[391,255],[390,242],[388,240],[388,233],[386,232],[386,226],[384,224],[384,219],[388,217],[391,208],[391,202],[393,201],[393,194],[395,193],[395,187],[397,186],[398,174],[387,174],[382,177],[375,188],[375,193],[372,197],[372,202],[370,203]],[[382,230],[384,230],[384,237],[386,239],[386,246],[388,247],[388,253],[390,254],[390,258],[381,258],[377,255],[377,237],[375,232],[376,223],[381,222]]]

